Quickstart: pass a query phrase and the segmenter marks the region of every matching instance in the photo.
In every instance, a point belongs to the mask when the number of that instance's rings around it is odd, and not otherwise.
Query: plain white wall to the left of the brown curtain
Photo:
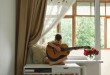
[[[0,75],[15,75],[15,1],[0,0]]]

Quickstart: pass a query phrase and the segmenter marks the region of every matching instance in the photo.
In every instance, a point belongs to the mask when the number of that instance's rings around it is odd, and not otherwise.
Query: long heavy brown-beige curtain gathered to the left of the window
[[[42,33],[47,0],[16,0],[16,59],[15,75],[23,75],[28,47]]]

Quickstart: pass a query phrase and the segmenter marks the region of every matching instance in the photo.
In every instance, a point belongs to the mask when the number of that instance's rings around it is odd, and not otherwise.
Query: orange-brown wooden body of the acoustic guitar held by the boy
[[[68,48],[68,46],[66,44],[61,44],[61,45],[57,45],[57,46],[59,46],[61,49],[62,48]],[[70,53],[70,51],[69,50],[57,51],[55,48],[47,45],[46,53],[47,53],[47,56],[49,58],[51,58],[52,60],[54,60],[54,59],[57,60],[61,56],[67,56]]]

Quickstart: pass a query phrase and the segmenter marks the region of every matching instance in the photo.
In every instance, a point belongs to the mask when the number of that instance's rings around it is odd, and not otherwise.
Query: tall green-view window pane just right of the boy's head
[[[66,43],[68,46],[72,46],[72,19],[62,19],[61,20],[61,34],[62,42]]]

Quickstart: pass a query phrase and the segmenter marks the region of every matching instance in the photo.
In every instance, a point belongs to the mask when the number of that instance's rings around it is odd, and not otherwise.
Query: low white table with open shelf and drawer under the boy
[[[39,68],[39,69],[38,69]],[[44,70],[45,69],[45,70]],[[38,70],[38,71],[37,71]],[[44,71],[44,72],[42,72]],[[26,64],[24,66],[24,74],[74,74],[81,75],[80,66],[76,63],[68,63],[65,65],[48,65],[48,64]]]

